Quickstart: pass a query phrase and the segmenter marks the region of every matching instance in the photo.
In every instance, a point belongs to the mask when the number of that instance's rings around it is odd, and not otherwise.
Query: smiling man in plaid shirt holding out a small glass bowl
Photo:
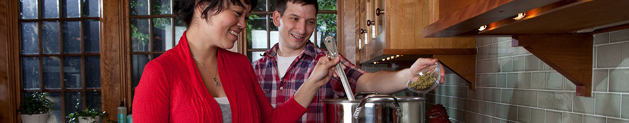
[[[308,79],[320,57],[327,51],[314,46],[308,39],[316,27],[316,0],[276,0],[273,24],[278,27],[279,43],[267,50],[261,59],[253,62],[260,86],[273,107],[287,101]],[[342,57],[353,92],[376,91],[390,94],[406,89],[406,82],[423,65],[435,64],[437,59],[418,59],[409,69],[401,71],[362,71]],[[443,78],[443,72],[442,72]],[[443,82],[443,79],[441,80]],[[333,77],[321,87],[301,122],[322,122],[322,99],[345,97],[340,79]]]

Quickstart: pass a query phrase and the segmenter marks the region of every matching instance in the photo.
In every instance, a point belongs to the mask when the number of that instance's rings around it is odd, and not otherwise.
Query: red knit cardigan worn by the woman
[[[296,122],[308,111],[292,97],[273,109],[246,56],[218,49],[217,57],[232,122]],[[223,122],[194,64],[186,32],[177,46],[145,66],[133,97],[133,122]]]

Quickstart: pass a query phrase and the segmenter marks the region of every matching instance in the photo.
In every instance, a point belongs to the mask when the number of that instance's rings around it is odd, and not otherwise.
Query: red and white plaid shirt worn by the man
[[[253,71],[255,71],[258,77],[262,91],[265,92],[273,107],[279,106],[286,102],[287,99],[290,99],[301,87],[301,84],[306,82],[306,79],[311,75],[319,58],[325,57],[328,53],[328,51],[315,47],[312,42],[308,42],[306,47],[304,47],[304,51],[292,61],[284,77],[280,78],[279,73],[277,73],[276,61],[278,47],[275,44],[275,46],[262,54],[262,58],[252,63]],[[352,87],[352,92],[356,92],[356,83],[365,71],[348,62],[345,57],[342,58],[343,65],[347,66],[345,74]],[[308,107],[308,112],[301,117],[299,122],[323,122],[323,103],[321,100],[342,97],[346,97],[343,85],[338,77],[333,77],[328,84],[319,89]]]

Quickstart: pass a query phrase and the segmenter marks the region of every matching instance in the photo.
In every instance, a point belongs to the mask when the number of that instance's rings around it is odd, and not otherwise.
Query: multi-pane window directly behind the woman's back
[[[186,24],[172,12],[171,0],[130,0],[131,98],[148,61],[179,43]],[[131,104],[131,103],[129,103]]]

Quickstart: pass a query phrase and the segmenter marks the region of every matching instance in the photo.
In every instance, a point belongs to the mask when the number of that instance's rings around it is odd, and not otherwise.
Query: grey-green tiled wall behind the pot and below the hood
[[[442,104],[452,122],[629,122],[629,29],[594,36],[592,97],[510,37],[477,38],[475,90],[448,74],[437,91],[419,94]],[[428,109],[428,108],[426,108]]]

